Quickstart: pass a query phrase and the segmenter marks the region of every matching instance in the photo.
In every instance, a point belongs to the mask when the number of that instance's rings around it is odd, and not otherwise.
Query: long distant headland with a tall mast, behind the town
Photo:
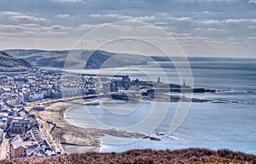
[[[63,68],[64,65],[76,68],[77,65],[82,64],[84,69],[98,69],[119,67],[124,65],[144,65],[147,63],[148,58],[143,55],[135,54],[116,54],[109,53],[102,50],[61,50],[61,51],[46,51],[46,50],[24,50],[24,49],[11,49],[4,50],[4,53],[17,58],[25,59],[32,65],[38,67],[53,67]],[[68,54],[71,54],[68,56]],[[78,54],[78,55],[73,55]],[[66,62],[68,56],[68,62]],[[87,63],[83,63],[87,61]],[[78,67],[78,66],[77,66]]]

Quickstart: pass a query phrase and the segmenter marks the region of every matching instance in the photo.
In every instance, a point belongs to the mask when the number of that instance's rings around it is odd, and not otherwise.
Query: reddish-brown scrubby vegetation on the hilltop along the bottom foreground
[[[3,164],[81,164],[81,163],[256,163],[256,156],[230,150],[129,150],[124,153],[84,153],[45,158],[20,158]]]

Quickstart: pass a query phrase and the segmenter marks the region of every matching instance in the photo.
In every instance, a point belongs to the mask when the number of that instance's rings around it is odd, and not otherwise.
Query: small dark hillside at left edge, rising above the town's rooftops
[[[27,71],[31,67],[32,65],[24,59],[18,59],[0,52],[0,71]]]

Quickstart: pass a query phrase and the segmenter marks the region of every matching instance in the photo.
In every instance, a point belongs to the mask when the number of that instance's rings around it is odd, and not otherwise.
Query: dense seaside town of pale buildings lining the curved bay
[[[160,82],[160,78],[156,82],[143,82],[131,80],[129,76],[76,75],[40,68],[2,72],[0,83],[0,160],[66,153],[60,140],[50,134],[49,127],[54,122],[50,119],[42,122],[30,112],[44,110],[44,105],[40,104],[42,100],[63,101],[78,96],[83,99],[110,96],[111,99],[138,100],[154,98],[155,92],[181,92],[182,89],[176,84],[166,86]],[[191,92],[185,83],[183,89]],[[172,100],[179,98],[172,97]]]

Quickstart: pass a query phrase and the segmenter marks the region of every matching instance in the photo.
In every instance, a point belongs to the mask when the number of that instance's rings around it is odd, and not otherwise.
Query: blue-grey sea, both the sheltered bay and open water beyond
[[[183,62],[177,61],[178,65]],[[161,82],[170,83],[191,82],[191,72],[195,88],[209,88],[217,92],[190,96],[216,101],[190,103],[180,116],[182,122],[177,129],[170,130],[170,126],[180,103],[99,100],[100,105],[96,106],[74,106],[67,110],[65,118],[79,127],[134,130],[160,139],[105,136],[102,137],[101,152],[206,148],[256,155],[256,59],[191,57],[189,68],[179,69],[189,73],[179,76],[175,64],[170,61],[102,69],[100,73],[99,70],[86,71],[89,74],[129,75],[132,79],[144,81],[157,81],[160,77]],[[165,73],[161,74],[161,71]],[[141,125],[141,122],[145,123]]]

